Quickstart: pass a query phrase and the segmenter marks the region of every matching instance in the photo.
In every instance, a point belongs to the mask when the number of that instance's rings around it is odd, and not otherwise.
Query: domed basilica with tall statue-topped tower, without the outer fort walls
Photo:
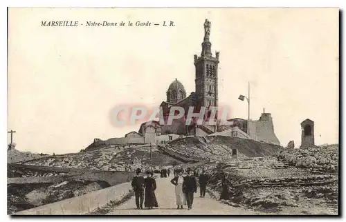
[[[167,119],[167,116],[170,113],[170,108],[173,106],[184,108],[184,117],[174,120],[172,125],[160,125],[158,121],[143,123],[139,130],[141,134],[145,134],[145,129],[149,125],[156,129],[157,134],[195,134],[197,123],[193,122],[190,125],[185,124],[188,109],[194,107],[194,112],[197,113],[201,107],[206,107],[206,113],[208,114],[210,113],[208,112],[208,107],[217,106],[217,70],[219,64],[219,52],[215,52],[215,56],[212,54],[210,26],[210,21],[206,19],[204,23],[204,38],[201,44],[201,55],[197,56],[197,54],[194,54],[195,92],[187,95],[183,84],[178,79],[175,79],[168,87],[166,92],[166,101],[163,101],[160,105],[163,110],[164,119]],[[208,129],[210,132],[216,131],[214,126]]]

